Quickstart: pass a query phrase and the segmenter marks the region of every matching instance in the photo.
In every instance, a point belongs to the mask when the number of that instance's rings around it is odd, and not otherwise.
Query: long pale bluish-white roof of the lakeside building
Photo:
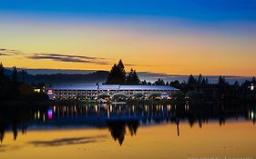
[[[55,90],[179,90],[169,85],[118,85],[118,84],[101,84],[101,85],[57,85],[49,89]]]

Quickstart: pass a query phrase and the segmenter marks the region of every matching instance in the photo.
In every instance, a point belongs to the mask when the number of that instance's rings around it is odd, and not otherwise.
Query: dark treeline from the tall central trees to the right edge
[[[144,84],[144,85],[169,85],[180,91],[173,94],[175,99],[189,99],[194,102],[220,102],[220,101],[256,101],[256,79],[240,84],[236,81],[230,84],[225,77],[220,76],[218,84],[211,84],[207,77],[199,75],[197,78],[189,75],[188,81],[165,82],[163,79],[151,83],[140,81],[135,70],[131,69],[127,74],[122,60],[118,65],[113,65],[108,80],[105,84]]]

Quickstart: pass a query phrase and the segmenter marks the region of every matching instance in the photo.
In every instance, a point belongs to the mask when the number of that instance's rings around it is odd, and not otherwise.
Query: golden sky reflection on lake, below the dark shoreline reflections
[[[5,134],[0,158],[192,158],[256,157],[255,126],[251,122],[218,122],[202,128],[187,123],[140,126],[127,131],[122,145],[104,129],[30,130],[17,140]]]

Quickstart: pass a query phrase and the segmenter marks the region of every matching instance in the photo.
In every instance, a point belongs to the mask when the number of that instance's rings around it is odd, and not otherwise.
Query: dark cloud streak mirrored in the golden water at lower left
[[[104,139],[107,136],[97,135],[91,137],[77,137],[77,138],[60,138],[50,141],[32,141],[28,144],[33,144],[35,146],[60,146],[60,145],[69,145],[69,144],[88,144],[98,142],[99,139]]]

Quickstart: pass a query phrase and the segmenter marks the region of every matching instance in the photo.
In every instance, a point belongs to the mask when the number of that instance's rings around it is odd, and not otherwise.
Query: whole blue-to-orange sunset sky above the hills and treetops
[[[255,0],[1,0],[6,67],[256,75]]]

